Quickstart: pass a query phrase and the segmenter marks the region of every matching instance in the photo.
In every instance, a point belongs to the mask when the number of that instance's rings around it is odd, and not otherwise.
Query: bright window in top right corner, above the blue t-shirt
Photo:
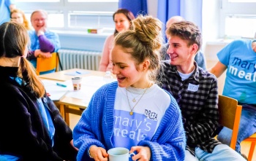
[[[256,0],[222,0],[220,36],[227,39],[255,37]],[[225,29],[223,29],[225,28]]]

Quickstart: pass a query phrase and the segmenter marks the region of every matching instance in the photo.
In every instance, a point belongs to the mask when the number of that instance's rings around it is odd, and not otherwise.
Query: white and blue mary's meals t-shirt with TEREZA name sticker
[[[144,90],[133,87],[128,87],[127,90],[125,87],[117,88],[112,140],[115,147],[130,149],[141,140],[150,141],[170,106],[170,96],[158,85],[152,85],[143,95]],[[141,95],[143,96],[140,99]],[[133,98],[136,99],[135,102],[132,101]],[[133,106],[135,108],[130,115]]]

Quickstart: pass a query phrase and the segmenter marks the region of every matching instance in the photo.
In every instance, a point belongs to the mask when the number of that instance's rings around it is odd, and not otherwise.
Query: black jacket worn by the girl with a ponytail
[[[37,98],[29,87],[20,86],[10,76],[18,68],[0,66],[0,154],[10,154],[21,160],[59,161],[75,160],[77,152],[69,144],[72,130],[67,126],[53,101],[45,95],[42,102],[48,106],[55,127],[54,146],[48,135]]]

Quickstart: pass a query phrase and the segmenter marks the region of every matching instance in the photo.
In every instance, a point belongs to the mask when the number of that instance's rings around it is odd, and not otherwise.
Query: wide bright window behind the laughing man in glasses
[[[31,12],[45,9],[48,12],[48,28],[87,31],[88,28],[105,28],[114,31],[113,12],[118,0],[16,0],[28,20]]]

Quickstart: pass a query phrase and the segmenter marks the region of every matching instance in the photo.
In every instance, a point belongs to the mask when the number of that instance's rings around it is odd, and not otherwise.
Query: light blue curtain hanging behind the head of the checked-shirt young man
[[[202,30],[202,7],[203,0],[158,0],[157,17],[165,26],[170,17],[180,15]],[[165,27],[163,34],[165,35]]]

